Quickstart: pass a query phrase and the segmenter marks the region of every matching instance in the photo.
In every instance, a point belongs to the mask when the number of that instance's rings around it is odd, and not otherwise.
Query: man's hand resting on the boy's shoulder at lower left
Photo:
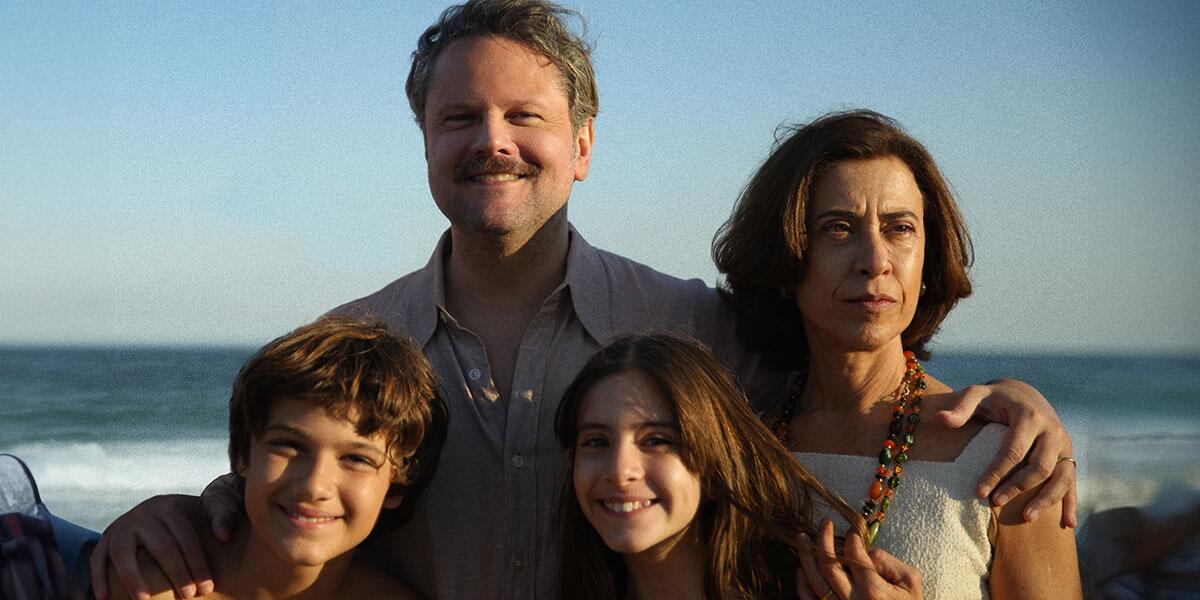
[[[149,598],[149,586],[138,568],[138,547],[154,557],[179,598],[212,593],[212,576],[196,535],[197,524],[211,523],[212,535],[228,540],[240,512],[233,474],[222,475],[194,496],[155,496],[121,515],[104,529],[89,560],[91,587],[97,600],[107,600],[108,563],[130,596]]]

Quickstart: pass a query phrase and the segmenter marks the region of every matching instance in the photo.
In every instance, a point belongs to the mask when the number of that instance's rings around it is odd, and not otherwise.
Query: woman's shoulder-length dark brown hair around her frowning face
[[[901,334],[905,349],[928,359],[925,343],[954,305],[971,295],[971,236],[934,158],[894,120],[871,110],[830,113],[790,127],[746,184],[713,240],[725,275],[721,296],[738,330],[772,362],[803,367],[808,341],[791,290],[808,260],[808,206],[816,180],[833,164],[894,156],[917,180],[925,202],[925,294]]]

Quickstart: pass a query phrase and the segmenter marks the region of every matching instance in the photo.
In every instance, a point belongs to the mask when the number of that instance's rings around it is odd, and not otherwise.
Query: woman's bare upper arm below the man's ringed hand
[[[1026,522],[1022,516],[1025,505],[1037,493],[1037,488],[1022,492],[1008,504],[992,509],[997,522],[996,550],[988,587],[995,600],[1070,600],[1084,595],[1075,556],[1075,530],[1060,524],[1060,505],[1046,510],[1050,518]]]

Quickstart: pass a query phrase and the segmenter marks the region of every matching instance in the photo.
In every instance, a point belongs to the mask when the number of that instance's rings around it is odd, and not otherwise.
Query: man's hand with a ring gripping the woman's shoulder
[[[1025,505],[1025,521],[1036,520],[1061,502],[1060,524],[1075,527],[1075,464],[1066,460],[1073,456],[1070,436],[1046,398],[1028,384],[998,379],[968,385],[954,407],[938,413],[942,422],[953,428],[972,416],[1008,426],[1000,454],[979,479],[979,497],[990,494],[996,506],[1003,506],[1018,494],[1042,486]],[[1018,468],[1022,461],[1025,466]],[[1004,482],[997,487],[1001,480]]]

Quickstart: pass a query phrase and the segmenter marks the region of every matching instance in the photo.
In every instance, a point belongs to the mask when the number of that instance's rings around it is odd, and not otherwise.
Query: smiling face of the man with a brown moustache
[[[558,68],[504,37],[442,53],[422,125],[430,191],[456,232],[523,244],[588,174],[592,120],[575,131]]]

